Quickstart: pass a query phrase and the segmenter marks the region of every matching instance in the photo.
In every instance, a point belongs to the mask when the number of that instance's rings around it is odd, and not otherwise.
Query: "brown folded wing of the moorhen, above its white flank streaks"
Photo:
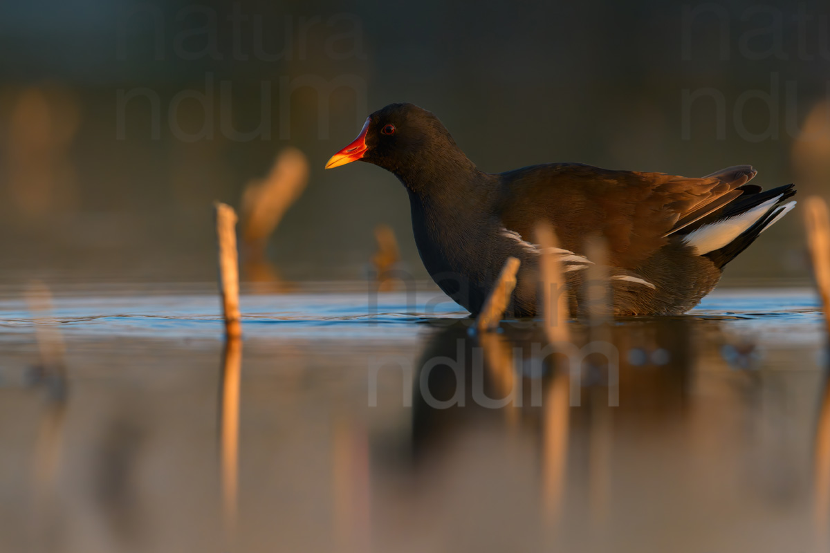
[[[503,173],[510,185],[499,215],[527,238],[535,221],[551,221],[568,250],[580,250],[586,235],[605,235],[612,263],[633,269],[671,233],[740,196],[755,174],[749,165],[699,178],[576,163],[525,167]]]

